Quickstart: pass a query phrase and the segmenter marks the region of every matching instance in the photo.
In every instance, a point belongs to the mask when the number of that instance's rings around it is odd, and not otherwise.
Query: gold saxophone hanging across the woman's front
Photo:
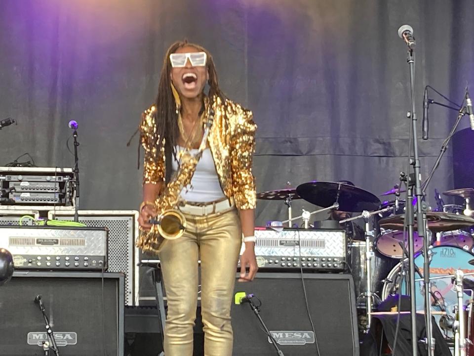
[[[197,162],[206,148],[207,135],[214,121],[214,110],[210,109],[205,124],[199,149],[195,155],[186,149],[180,156],[180,166],[174,179],[170,181],[160,196],[155,200],[157,217],[151,221],[150,231],[140,230],[136,246],[143,252],[158,253],[166,240],[175,240],[183,235],[186,229],[186,218],[177,207],[183,187],[191,183]]]

